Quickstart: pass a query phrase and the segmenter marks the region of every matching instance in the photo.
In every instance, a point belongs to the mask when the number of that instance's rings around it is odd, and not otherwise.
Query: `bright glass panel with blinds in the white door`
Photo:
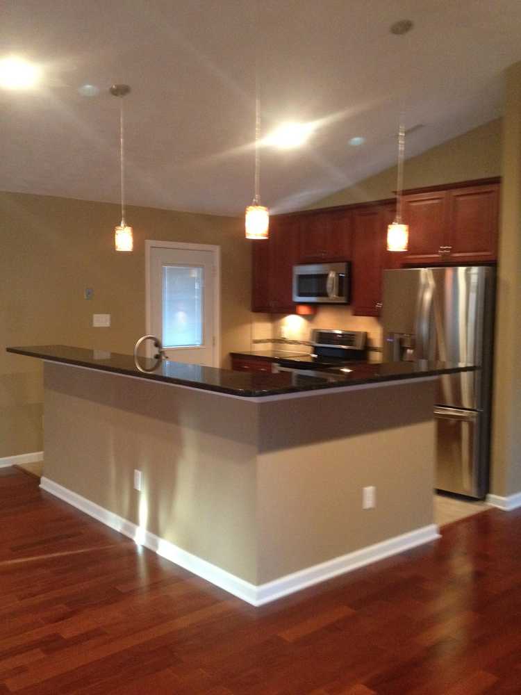
[[[163,265],[163,345],[199,347],[204,342],[204,268]]]

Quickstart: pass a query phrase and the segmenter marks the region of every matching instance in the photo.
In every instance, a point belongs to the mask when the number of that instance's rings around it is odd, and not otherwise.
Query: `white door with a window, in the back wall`
[[[176,362],[218,366],[219,249],[147,242],[149,332]]]

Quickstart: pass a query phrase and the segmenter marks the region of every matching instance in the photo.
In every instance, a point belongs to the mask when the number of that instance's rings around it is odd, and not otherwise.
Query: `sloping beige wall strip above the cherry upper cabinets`
[[[443,183],[499,176],[501,139],[502,124],[498,118],[407,159],[404,166],[404,188],[438,186]],[[396,167],[390,167],[359,181],[355,186],[322,198],[308,208],[392,198],[395,190]]]

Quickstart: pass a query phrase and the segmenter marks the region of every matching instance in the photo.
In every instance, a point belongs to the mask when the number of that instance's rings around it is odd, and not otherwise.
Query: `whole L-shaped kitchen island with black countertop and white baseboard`
[[[471,366],[295,375],[8,351],[44,360],[42,488],[249,603],[438,536],[436,378]]]

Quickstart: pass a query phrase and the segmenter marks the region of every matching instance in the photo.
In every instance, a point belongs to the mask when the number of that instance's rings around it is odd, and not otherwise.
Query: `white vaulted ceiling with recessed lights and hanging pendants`
[[[263,129],[320,122],[297,151],[263,149],[261,197],[305,206],[502,113],[521,59],[520,0],[258,0]],[[413,31],[389,33],[397,19]],[[131,204],[242,213],[253,195],[254,0],[3,0],[0,57],[44,63],[0,91],[0,190],[117,202],[126,97]],[[84,83],[97,97],[82,97]],[[364,136],[363,147],[347,144]]]

